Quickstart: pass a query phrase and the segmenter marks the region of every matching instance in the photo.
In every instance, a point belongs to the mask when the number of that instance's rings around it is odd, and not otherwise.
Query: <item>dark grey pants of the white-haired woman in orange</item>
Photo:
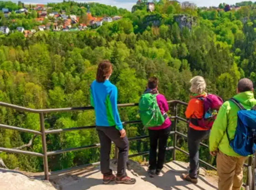
[[[189,127],[188,129],[188,151],[189,151],[189,176],[197,178],[199,172],[199,147],[200,142],[209,137],[210,130],[198,131]]]

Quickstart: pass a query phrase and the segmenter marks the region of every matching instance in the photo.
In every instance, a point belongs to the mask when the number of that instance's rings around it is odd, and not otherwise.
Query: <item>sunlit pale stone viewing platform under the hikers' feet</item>
[[[115,171],[115,165],[111,164]],[[99,167],[88,167],[50,177],[50,182],[43,180],[43,173],[21,173],[0,169],[0,187],[4,190],[217,190],[218,177],[205,169],[200,169],[198,184],[191,184],[181,179],[188,164],[180,161],[166,163],[160,176],[150,178],[147,166],[129,161],[127,174],[135,177],[135,185],[102,184]]]

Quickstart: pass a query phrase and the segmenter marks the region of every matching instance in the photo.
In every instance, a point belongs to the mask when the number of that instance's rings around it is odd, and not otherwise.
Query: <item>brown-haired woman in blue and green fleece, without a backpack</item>
[[[126,174],[129,142],[117,110],[117,88],[109,81],[112,74],[112,64],[108,60],[101,61],[96,80],[90,87],[91,105],[96,115],[96,130],[100,140],[100,169],[103,183],[111,181],[124,184],[135,184],[136,179]],[[109,167],[111,141],[115,143],[118,152],[117,175],[113,175]]]

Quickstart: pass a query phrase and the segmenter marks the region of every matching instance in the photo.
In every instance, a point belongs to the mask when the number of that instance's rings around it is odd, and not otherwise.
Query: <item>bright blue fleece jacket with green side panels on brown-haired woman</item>
[[[117,110],[117,88],[109,80],[94,80],[90,87],[91,105],[94,107],[97,126],[123,128]]]

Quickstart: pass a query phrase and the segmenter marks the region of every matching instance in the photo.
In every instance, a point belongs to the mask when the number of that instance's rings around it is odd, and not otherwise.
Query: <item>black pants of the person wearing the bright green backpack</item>
[[[171,130],[171,127],[168,127],[162,130],[149,130],[149,139],[150,139],[149,169],[150,170],[155,170],[155,169],[161,170],[163,168],[164,162],[165,162],[167,139],[168,139],[170,130]],[[157,155],[157,144],[158,144],[158,155]]]

